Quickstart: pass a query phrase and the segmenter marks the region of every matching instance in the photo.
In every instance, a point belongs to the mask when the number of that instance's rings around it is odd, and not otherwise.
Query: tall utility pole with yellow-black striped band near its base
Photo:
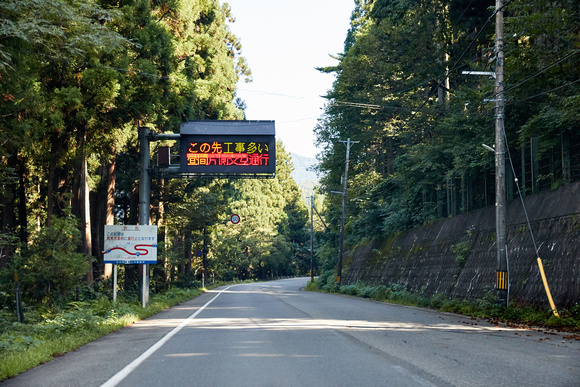
[[[505,96],[504,96],[504,52],[503,52],[503,0],[495,1],[495,214],[497,243],[496,291],[499,304],[507,306],[507,227],[505,185]]]

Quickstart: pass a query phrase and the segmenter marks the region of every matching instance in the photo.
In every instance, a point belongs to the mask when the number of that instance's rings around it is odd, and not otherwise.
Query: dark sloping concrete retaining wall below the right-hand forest
[[[580,183],[525,198],[557,308],[580,302]],[[549,308],[521,201],[508,204],[510,300]],[[426,295],[479,299],[495,289],[495,207],[373,240],[349,251],[344,283],[398,283]]]

